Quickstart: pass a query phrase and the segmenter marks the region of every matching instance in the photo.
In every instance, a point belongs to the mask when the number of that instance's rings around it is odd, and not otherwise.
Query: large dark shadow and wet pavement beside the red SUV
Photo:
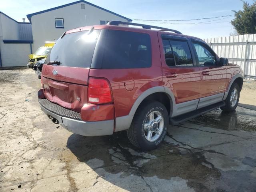
[[[250,156],[248,151],[245,155],[230,156],[230,150],[239,153],[239,150],[246,151],[248,146],[255,148],[255,120],[255,111],[241,107],[230,114],[220,109],[214,110],[180,126],[170,126],[164,143],[149,152],[134,148],[126,132],[93,138],[72,134],[67,147],[80,162],[86,163],[99,176],[129,191],[138,188],[128,187],[122,179],[132,177],[135,183],[139,180],[145,182],[148,187],[146,191],[157,191],[161,186],[165,186],[161,191],[169,191],[176,189],[169,184],[176,184],[182,186],[180,191],[255,192],[255,153]],[[223,142],[227,140],[230,141]],[[240,140],[250,143],[237,142]],[[228,146],[230,143],[233,143],[233,149]],[[158,188],[154,188],[152,183],[157,183]]]

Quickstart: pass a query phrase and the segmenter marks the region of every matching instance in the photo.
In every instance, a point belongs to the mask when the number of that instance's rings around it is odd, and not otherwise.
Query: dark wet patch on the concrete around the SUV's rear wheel
[[[157,176],[170,180],[179,177],[188,180],[188,186],[198,188],[198,191],[209,191],[204,187],[205,181],[221,176],[201,152],[181,153],[177,145],[169,143],[150,152],[141,152],[133,148],[125,132],[94,138],[72,134],[67,147],[95,172],[100,167],[112,174],[124,172],[141,178]],[[92,159],[102,160],[104,165],[90,165]]]

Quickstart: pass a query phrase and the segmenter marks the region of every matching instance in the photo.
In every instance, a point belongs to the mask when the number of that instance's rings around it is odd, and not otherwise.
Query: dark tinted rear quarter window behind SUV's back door
[[[148,34],[109,30],[102,68],[147,68],[151,66],[151,57]]]

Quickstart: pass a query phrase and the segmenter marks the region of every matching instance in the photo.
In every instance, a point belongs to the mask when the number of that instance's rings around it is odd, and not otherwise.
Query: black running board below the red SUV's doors
[[[188,112],[188,113],[185,113],[185,114],[173,117],[173,118],[170,118],[169,123],[171,125],[178,125],[181,122],[195,118],[197,116],[200,116],[204,113],[210,112],[214,109],[217,109],[217,108],[223,107],[223,106],[225,106],[224,101],[218,102],[218,103],[215,103],[215,104],[212,104],[212,105],[209,105],[209,106],[206,106],[206,107],[203,107],[203,108],[200,108],[200,109],[197,109],[197,110],[194,110],[194,111],[191,111],[191,112]]]

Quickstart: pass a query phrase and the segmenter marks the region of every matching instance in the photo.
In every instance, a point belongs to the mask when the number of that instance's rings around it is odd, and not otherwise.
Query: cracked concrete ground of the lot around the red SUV
[[[169,126],[150,152],[137,151],[125,132],[84,137],[53,124],[40,110],[40,80],[30,69],[0,71],[0,84],[1,192],[256,191],[253,81],[241,93],[246,108]]]

